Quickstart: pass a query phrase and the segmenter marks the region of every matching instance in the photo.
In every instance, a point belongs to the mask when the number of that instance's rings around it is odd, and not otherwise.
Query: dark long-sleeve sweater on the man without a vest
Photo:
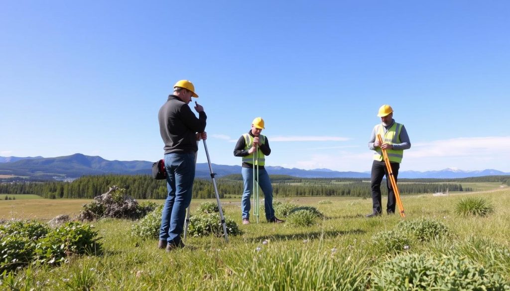
[[[197,118],[186,102],[169,95],[158,114],[165,153],[195,153],[196,133],[206,129],[206,119],[205,112],[199,112]]]

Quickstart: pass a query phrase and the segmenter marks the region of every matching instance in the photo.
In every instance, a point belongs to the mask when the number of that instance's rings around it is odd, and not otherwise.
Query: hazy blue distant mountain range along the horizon
[[[58,157],[2,157],[0,156],[0,175],[15,175],[39,179],[78,178],[83,175],[103,174],[150,174],[152,162],[147,161],[108,161],[100,156],[75,153]],[[240,174],[241,166],[212,164],[217,177]],[[303,170],[266,166],[271,175],[289,175],[301,178],[370,178],[370,172],[339,172],[329,169]],[[465,178],[492,175],[510,175],[497,170],[462,171],[444,169],[440,171],[402,171],[399,178]],[[198,163],[196,176],[209,178],[209,165]]]

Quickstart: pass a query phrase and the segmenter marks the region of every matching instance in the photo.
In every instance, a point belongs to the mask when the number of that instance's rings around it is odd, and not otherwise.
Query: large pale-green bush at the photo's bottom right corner
[[[372,290],[508,290],[499,274],[465,257],[402,254],[373,271]]]

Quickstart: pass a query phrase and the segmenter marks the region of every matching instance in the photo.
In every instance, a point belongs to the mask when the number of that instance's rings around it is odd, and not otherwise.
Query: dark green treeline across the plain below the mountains
[[[240,176],[240,175],[239,175]],[[271,176],[271,178],[275,178]],[[279,177],[276,177],[279,178]],[[286,179],[274,179],[273,195],[279,197],[291,196],[358,196],[370,197],[370,183],[362,179],[294,179],[290,184]],[[331,184],[330,181],[344,181],[342,184]],[[106,193],[116,185],[126,189],[126,194],[136,199],[164,199],[167,195],[165,180],[155,180],[148,175],[100,175],[83,176],[72,182],[27,182],[2,183],[0,193],[7,194],[36,194],[44,198],[88,198]],[[386,192],[386,180],[382,181],[382,192]],[[220,198],[238,197],[243,193],[243,182],[237,177],[217,179]],[[400,183],[400,194],[435,193],[441,191],[472,191],[463,189],[459,183]],[[193,198],[214,198],[214,188],[210,179],[195,179]]]

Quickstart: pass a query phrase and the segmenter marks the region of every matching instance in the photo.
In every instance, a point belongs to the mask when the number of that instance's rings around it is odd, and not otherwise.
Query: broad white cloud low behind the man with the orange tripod
[[[436,140],[428,143],[412,143],[404,151],[401,165],[403,171],[430,171],[445,168],[462,170],[496,169],[510,172],[510,137],[475,137]],[[336,171],[370,171],[373,151],[359,149],[309,150],[302,152],[293,163],[282,163],[286,168]],[[283,157],[284,158],[284,157]],[[286,157],[285,161],[289,161]]]

